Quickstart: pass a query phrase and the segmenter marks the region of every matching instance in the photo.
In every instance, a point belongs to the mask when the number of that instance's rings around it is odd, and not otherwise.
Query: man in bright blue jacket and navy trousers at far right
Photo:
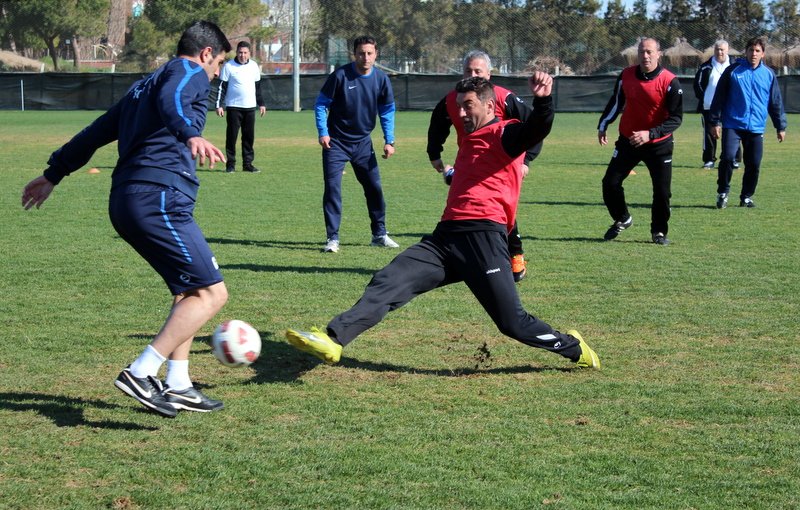
[[[786,112],[775,73],[763,62],[764,41],[747,41],[745,59],[731,64],[722,75],[711,103],[714,137],[722,138],[722,154],[717,170],[717,208],[728,205],[734,158],[742,144],[744,174],[739,195],[741,207],[755,207],[753,195],[764,154],[767,115],[778,132],[778,142],[786,137]]]

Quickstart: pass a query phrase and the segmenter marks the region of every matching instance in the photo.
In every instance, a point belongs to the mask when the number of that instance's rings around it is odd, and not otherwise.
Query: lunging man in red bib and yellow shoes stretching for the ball
[[[372,277],[361,299],[334,317],[326,331],[287,330],[294,347],[326,363],[342,347],[416,296],[451,283],[467,284],[500,332],[531,347],[560,354],[582,368],[600,368],[597,354],[577,331],[560,333],[522,307],[511,274],[506,236],[514,225],[525,151],[553,124],[553,78],[529,80],[533,114],[525,122],[495,116],[492,84],[468,78],[456,86],[465,136],[441,221],[432,234],[395,257]]]

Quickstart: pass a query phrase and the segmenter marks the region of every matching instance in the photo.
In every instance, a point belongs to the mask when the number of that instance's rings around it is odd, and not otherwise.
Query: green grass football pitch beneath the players
[[[0,112],[0,509],[790,509],[800,507],[800,118],[770,128],[758,207],[717,210],[700,120],[677,132],[668,247],[650,242],[650,179],[626,181],[636,224],[611,223],[611,156],[596,114],[559,114],[525,182],[523,303],[577,328],[603,362],[500,335],[463,285],[391,313],[327,366],[287,327],[324,326],[397,253],[369,247],[352,171],[342,251],[323,254],[311,112],[269,112],[258,175],[200,172],[196,217],[230,291],[195,342],[192,374],[226,409],[148,413],[113,387],[160,328],[170,296],[106,213],[114,147],[38,211],[23,185],[98,112]],[[428,113],[397,116],[382,161],[403,247],[446,194],[425,154]],[[224,121],[206,135],[224,145]],[[614,125],[616,129],[616,124]],[[380,136],[380,130],[376,132]],[[452,141],[451,141],[452,146]],[[208,347],[225,319],[264,341],[248,369]]]

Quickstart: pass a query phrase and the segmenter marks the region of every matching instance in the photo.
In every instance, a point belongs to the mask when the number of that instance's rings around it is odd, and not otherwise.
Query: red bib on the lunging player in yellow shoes
[[[516,119],[492,122],[464,134],[454,165],[458,170],[453,174],[442,221],[489,220],[506,225],[507,231],[511,231],[522,187],[520,166],[525,153],[509,156],[500,138],[507,125],[517,122]]]

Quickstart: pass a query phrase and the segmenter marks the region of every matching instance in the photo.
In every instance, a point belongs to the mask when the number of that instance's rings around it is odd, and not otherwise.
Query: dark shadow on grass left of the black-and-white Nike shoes
[[[0,393],[0,409],[9,411],[35,411],[51,420],[57,427],[92,427],[110,430],[158,430],[158,427],[146,427],[136,423],[119,421],[92,421],[83,415],[83,408],[119,409],[116,404],[102,400],[86,400],[64,395],[46,393],[5,392]],[[142,409],[142,412],[148,412]]]

